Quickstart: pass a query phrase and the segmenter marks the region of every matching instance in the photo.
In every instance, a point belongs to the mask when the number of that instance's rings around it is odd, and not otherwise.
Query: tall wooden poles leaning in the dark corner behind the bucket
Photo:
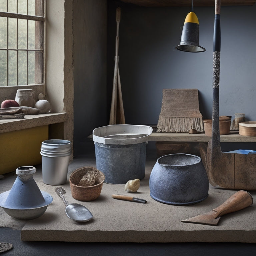
[[[121,90],[121,80],[120,80],[119,67],[118,67],[120,20],[121,20],[121,9],[120,9],[120,7],[118,7],[118,8],[116,8],[116,49],[115,49],[115,66],[114,66],[112,100],[111,100],[111,109],[110,109],[110,117],[109,117],[110,125],[111,124],[125,124],[124,107],[123,107],[122,90]]]

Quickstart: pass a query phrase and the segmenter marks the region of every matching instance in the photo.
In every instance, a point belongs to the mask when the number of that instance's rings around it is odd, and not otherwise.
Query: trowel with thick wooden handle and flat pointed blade
[[[217,208],[190,219],[182,220],[181,222],[216,226],[222,215],[239,211],[250,206],[251,204],[253,204],[251,194],[247,191],[239,190]]]

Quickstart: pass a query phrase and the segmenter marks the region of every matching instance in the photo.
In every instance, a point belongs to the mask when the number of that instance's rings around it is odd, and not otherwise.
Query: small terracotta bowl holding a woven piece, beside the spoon
[[[91,180],[94,180],[92,186],[90,185]],[[104,180],[105,175],[94,167],[85,166],[76,169],[69,178],[72,197],[80,201],[97,199],[100,196]]]

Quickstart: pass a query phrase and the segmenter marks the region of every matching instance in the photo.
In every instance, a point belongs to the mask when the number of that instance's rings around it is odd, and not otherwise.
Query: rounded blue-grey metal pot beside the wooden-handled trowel
[[[209,181],[200,157],[171,154],[158,158],[149,188],[150,196],[158,202],[188,205],[208,197]]]

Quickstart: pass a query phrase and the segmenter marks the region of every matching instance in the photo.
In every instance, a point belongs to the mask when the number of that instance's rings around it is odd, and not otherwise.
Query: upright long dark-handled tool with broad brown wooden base
[[[200,148],[210,183],[228,189],[256,190],[256,155],[223,153],[219,129],[220,0],[215,0],[213,37],[212,139]]]

